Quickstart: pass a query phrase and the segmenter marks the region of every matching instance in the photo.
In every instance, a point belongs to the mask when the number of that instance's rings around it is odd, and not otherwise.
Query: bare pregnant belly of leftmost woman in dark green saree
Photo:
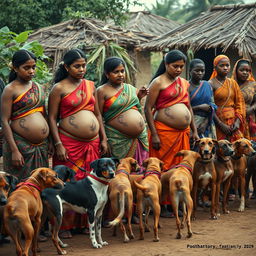
[[[43,142],[49,135],[49,126],[40,112],[12,121],[11,128],[33,144]]]

